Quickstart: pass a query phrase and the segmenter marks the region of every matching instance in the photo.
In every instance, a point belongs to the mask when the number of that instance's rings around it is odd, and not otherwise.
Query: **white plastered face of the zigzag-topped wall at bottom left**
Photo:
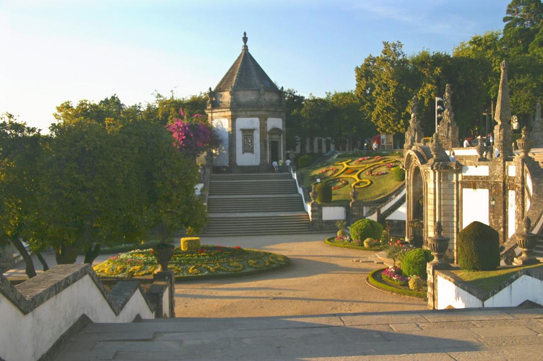
[[[39,359],[84,314],[94,323],[132,322],[138,314],[154,318],[140,291],[115,315],[89,275],[26,315],[0,294],[0,357],[9,361]]]

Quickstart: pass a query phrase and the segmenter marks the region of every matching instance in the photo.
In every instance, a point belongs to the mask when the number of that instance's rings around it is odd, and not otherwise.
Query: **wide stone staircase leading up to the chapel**
[[[213,174],[206,235],[293,234],[310,221],[289,173]]]

